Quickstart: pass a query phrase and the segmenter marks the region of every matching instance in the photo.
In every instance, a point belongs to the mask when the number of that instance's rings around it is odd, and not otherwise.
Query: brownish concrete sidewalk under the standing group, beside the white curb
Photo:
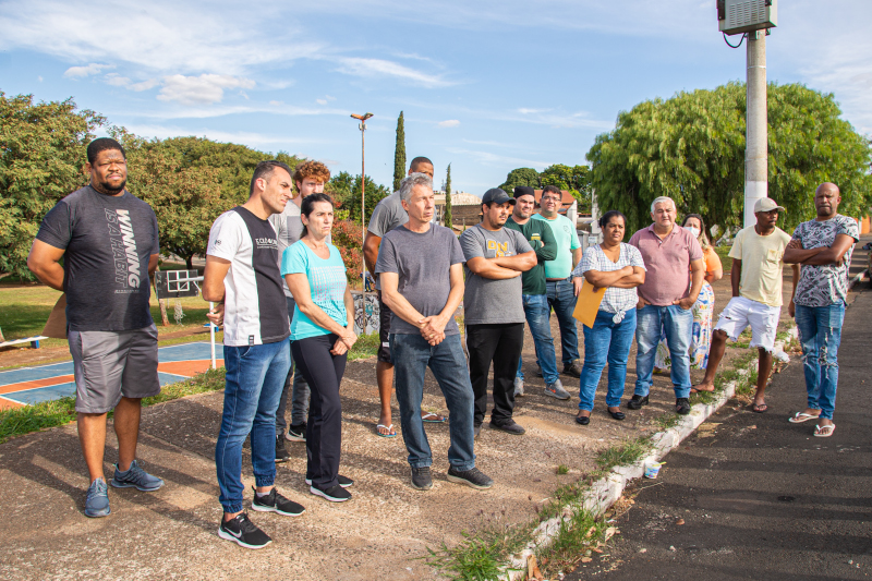
[[[715,285],[716,306],[729,296],[729,282]],[[559,342],[553,319],[555,343]],[[580,334],[581,336],[581,334]],[[581,346],[580,346],[581,347]],[[739,349],[730,348],[728,358]],[[559,348],[558,348],[559,353]],[[559,355],[558,355],[559,356]],[[583,355],[582,355],[583,356]],[[594,469],[594,455],[627,438],[652,434],[654,419],[674,413],[668,377],[655,375],[649,408],[615,422],[605,412],[605,375],[589,426],[578,426],[578,379],[564,376],[573,395],[556,401],[543,395],[535,376],[533,342],[524,349],[526,394],[516,419],[523,437],[485,428],[476,443],[479,467],[496,485],[477,492],[445,480],[448,426],[427,424],[434,450],[435,486],[421,493],[409,484],[402,438],[377,437],[378,394],[375,360],[352,362],[342,383],[341,472],[355,481],[349,503],[313,497],[303,482],[305,449],[289,444],[292,459],[278,468],[277,485],[306,512],[300,518],[253,512],[274,543],[257,552],[220,540],[221,516],[215,476],[215,438],[222,394],[207,394],[147,408],[143,412],[138,458],[165,479],[157,493],[110,487],[112,515],[83,516],[87,472],[74,424],[29,434],[0,445],[0,579],[287,579],[420,580],[437,577],[420,557],[427,547],[453,546],[461,532],[497,523],[529,522],[560,485]],[[629,358],[626,398],[632,395],[634,351]],[[699,379],[702,372],[694,372]],[[432,376],[424,404],[446,413]],[[398,422],[395,400],[395,423]],[[838,432],[837,432],[838,435]],[[106,462],[116,461],[114,436]],[[569,473],[558,475],[559,464]],[[111,474],[111,472],[108,472]],[[251,461],[243,459],[246,486]],[[245,494],[246,506],[251,489]]]

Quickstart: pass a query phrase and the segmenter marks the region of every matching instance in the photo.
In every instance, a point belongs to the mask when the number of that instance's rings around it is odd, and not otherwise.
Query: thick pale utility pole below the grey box
[[[766,31],[748,33],[744,149],[744,227],[756,223],[754,203],[768,197]]]

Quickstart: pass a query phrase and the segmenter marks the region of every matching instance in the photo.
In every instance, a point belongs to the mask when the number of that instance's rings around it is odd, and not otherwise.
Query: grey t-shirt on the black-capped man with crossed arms
[[[460,247],[467,262],[472,258],[517,256],[533,252],[524,235],[508,228],[496,232],[476,223],[460,237]],[[467,289],[463,293],[463,317],[467,325],[523,323],[524,306],[521,277],[494,280],[480,277],[464,265]]]

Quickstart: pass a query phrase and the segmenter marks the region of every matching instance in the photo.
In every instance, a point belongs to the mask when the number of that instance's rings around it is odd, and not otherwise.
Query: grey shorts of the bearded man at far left
[[[125,398],[160,394],[157,327],[66,334],[73,355],[75,411],[106,413]]]

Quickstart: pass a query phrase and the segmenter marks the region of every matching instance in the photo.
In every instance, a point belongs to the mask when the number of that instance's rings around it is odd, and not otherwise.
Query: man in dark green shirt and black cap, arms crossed
[[[550,307],[545,288],[545,261],[553,261],[557,256],[557,239],[550,226],[543,220],[533,220],[536,208],[536,197],[533,189],[519,185],[514,189],[514,208],[511,217],[506,220],[506,228],[511,228],[523,234],[536,252],[536,266],[521,275],[523,285],[522,300],[524,316],[533,335],[533,344],[536,347],[536,359],[542,367],[545,378],[545,395],[557,399],[569,399],[569,394],[560,383],[557,373],[557,354],[554,351],[554,340],[550,328]],[[524,373],[521,371],[522,361],[518,361],[518,373],[514,376],[514,395],[524,395]]]

